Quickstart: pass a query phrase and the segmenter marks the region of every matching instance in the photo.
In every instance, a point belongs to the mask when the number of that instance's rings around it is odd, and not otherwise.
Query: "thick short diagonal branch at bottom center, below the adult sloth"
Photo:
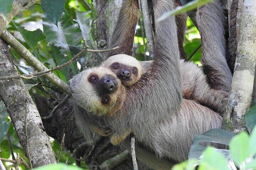
[[[118,164],[120,164],[121,162],[123,162],[124,160],[128,159],[129,155],[130,155],[130,153],[127,150],[125,150],[125,151],[117,154],[116,156],[104,161],[98,167],[100,169],[110,170],[110,169],[114,168],[115,166],[117,166]]]

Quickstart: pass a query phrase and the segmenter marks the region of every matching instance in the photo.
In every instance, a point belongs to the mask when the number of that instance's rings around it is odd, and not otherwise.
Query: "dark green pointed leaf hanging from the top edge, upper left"
[[[41,0],[41,8],[45,17],[55,25],[64,11],[65,2],[66,0]]]

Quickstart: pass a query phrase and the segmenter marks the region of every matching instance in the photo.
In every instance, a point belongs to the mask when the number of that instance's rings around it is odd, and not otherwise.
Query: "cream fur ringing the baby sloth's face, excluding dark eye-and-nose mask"
[[[137,74],[133,74],[131,75],[131,78],[129,81],[125,81],[121,79],[121,82],[124,86],[131,86],[133,84],[135,84],[141,77],[142,75],[142,67],[141,64],[138,60],[136,60],[136,58],[126,55],[126,54],[118,54],[118,55],[114,55],[109,57],[106,61],[104,61],[104,63],[102,63],[102,67],[108,68],[111,71],[113,71],[115,73],[116,70],[114,70],[112,68],[112,64],[113,63],[119,63],[122,65],[125,65],[126,67],[131,68],[130,70],[132,70],[133,67],[137,68]]]

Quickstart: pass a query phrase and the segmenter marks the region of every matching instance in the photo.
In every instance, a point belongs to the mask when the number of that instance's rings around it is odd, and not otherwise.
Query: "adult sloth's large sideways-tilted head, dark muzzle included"
[[[74,76],[70,88],[76,104],[98,116],[116,107],[123,89],[117,76],[102,67],[84,70]]]

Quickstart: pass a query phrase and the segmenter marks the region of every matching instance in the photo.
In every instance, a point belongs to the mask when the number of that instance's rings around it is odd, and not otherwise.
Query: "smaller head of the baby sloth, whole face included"
[[[113,71],[124,86],[135,84],[142,74],[142,68],[139,61],[126,54],[118,54],[109,57],[102,64],[102,67]]]

